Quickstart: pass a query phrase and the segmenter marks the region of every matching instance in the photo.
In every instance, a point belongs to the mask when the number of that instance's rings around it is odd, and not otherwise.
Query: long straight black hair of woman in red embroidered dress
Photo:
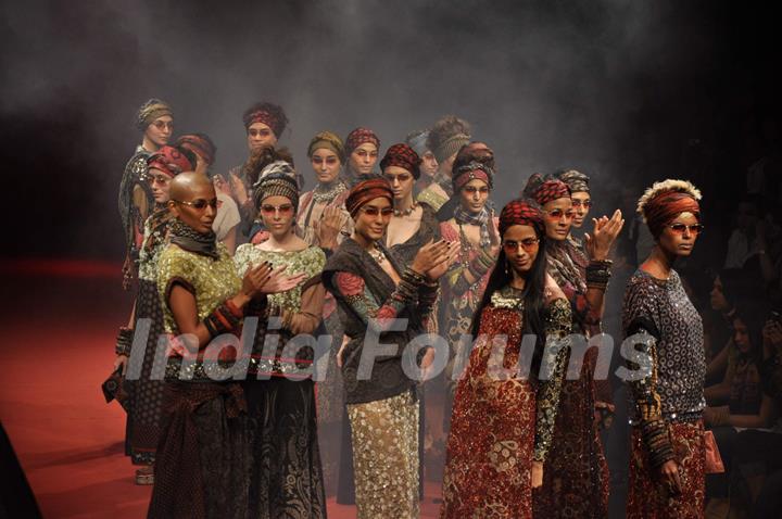
[[[530,374],[538,375],[541,366],[541,359],[543,358],[543,349],[545,347],[545,324],[543,316],[547,312],[545,302],[545,281],[546,281],[546,258],[545,258],[545,231],[532,226],[540,240],[538,245],[538,256],[532,263],[532,267],[527,276],[527,282],[522,292],[524,296],[524,324],[521,326],[521,333],[532,333],[538,337],[535,341],[534,353],[532,354],[532,369]],[[497,290],[507,287],[513,280],[513,274],[509,269],[505,268],[506,263],[505,251],[500,250],[494,269],[489,276],[489,282],[483,292],[478,307],[472,315],[472,324],[470,325],[470,333],[472,340],[478,337],[480,331],[480,320],[483,315],[483,308],[491,303],[491,296]]]

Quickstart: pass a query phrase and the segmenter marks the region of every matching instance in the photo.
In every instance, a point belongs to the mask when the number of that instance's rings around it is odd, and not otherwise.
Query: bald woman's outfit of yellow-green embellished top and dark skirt
[[[172,225],[172,240],[177,232],[197,235],[184,227]],[[202,237],[214,250],[192,252],[172,243],[160,255],[157,291],[165,330],[174,336],[179,330],[167,303],[174,286],[193,294],[199,321],[241,288],[225,245],[215,248],[214,233]],[[243,392],[235,382],[210,379],[202,359],[184,363],[181,352],[174,342],[148,517],[248,517],[253,457]]]

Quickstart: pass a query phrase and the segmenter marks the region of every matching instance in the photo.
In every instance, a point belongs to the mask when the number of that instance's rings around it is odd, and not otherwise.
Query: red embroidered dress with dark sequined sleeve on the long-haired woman
[[[492,294],[481,315],[479,339],[454,401],[442,518],[532,517],[530,470],[532,460],[543,461],[551,448],[568,350],[551,359],[550,380],[519,377],[522,304],[521,292],[506,287]],[[548,303],[546,337],[568,336],[570,324],[567,301]],[[502,336],[507,345],[497,352],[493,341]],[[503,376],[500,369],[510,372]]]

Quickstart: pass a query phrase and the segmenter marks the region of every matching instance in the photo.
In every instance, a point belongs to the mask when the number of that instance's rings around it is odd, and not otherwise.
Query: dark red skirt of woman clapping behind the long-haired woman
[[[596,354],[589,350],[578,380],[563,382],[543,486],[533,493],[537,517],[608,516],[608,464],[594,419]]]

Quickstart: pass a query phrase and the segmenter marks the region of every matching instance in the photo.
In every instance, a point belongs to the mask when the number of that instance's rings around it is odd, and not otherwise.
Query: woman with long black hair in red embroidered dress
[[[508,203],[500,235],[503,248],[472,319],[476,345],[451,417],[443,518],[531,519],[532,489],[543,482],[554,432],[568,349],[548,356],[544,346],[570,333],[570,304],[546,274],[534,202]],[[531,355],[521,349],[525,336],[535,338]],[[492,355],[497,337],[507,339],[502,362]]]

